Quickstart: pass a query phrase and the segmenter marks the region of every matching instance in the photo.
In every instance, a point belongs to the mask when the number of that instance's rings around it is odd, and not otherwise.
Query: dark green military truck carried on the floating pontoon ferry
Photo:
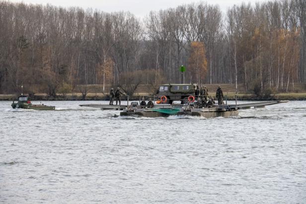
[[[158,87],[156,92],[157,99],[160,100],[162,96],[166,97],[166,103],[172,104],[173,101],[181,101],[182,104],[188,102],[190,95],[199,95],[199,86],[193,84],[162,84]]]

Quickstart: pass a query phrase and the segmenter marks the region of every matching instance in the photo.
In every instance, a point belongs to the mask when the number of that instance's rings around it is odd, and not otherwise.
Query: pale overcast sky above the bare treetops
[[[130,11],[138,17],[146,16],[151,10],[158,11],[169,7],[176,7],[182,4],[192,2],[199,2],[201,0],[9,0],[10,2],[25,2],[25,3],[39,3],[52,4],[62,7],[79,6],[84,9],[93,8],[105,12],[113,11]],[[265,0],[252,0],[254,2],[262,2]],[[226,12],[227,8],[233,4],[240,4],[241,2],[249,2],[249,0],[206,0],[209,4],[219,4],[221,10]]]

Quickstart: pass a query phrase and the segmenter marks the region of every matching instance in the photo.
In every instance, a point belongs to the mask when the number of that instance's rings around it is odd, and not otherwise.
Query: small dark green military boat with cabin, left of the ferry
[[[44,104],[34,105],[25,95],[21,95],[17,99],[17,103],[13,101],[11,104],[12,108],[23,108],[23,109],[33,109],[33,110],[55,110],[55,106],[46,106]]]

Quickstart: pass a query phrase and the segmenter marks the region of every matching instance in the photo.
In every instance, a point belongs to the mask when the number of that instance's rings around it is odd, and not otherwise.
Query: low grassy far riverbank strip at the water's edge
[[[142,95],[148,95],[148,93],[139,93],[139,95],[133,95],[130,97],[130,100],[139,100],[139,97]],[[224,100],[235,100],[235,93],[226,93]],[[3,94],[0,95],[1,101],[12,101],[16,100],[15,94]],[[126,96],[122,96],[122,100],[126,100]],[[82,98],[80,93],[57,95],[57,97],[49,96],[47,94],[35,94],[33,99],[34,101],[82,101],[82,100],[96,100],[96,101],[106,101],[109,100],[109,96],[103,93],[89,93],[86,95],[85,99]],[[237,100],[306,100],[306,93],[277,93],[271,94],[270,96],[256,96],[255,94],[237,94]]]

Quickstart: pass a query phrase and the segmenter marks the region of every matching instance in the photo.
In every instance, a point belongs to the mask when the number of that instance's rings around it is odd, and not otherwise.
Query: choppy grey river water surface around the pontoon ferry
[[[10,103],[0,102],[0,203],[306,203],[305,101],[214,119]]]

